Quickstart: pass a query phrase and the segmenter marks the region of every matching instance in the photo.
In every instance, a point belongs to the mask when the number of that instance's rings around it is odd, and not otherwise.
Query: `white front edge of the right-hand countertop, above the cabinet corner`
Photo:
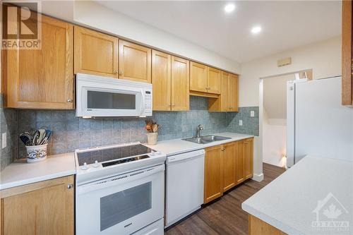
[[[283,224],[277,219],[274,219],[273,217],[270,217],[264,214],[263,212],[254,209],[253,207],[251,207],[250,205],[247,205],[246,203],[241,203],[241,209],[248,212],[250,215],[257,217],[258,219],[261,219],[263,222],[270,224],[276,229],[280,229],[286,234],[297,234],[297,235],[303,234],[301,231],[298,231],[297,229],[294,229],[293,227],[290,227],[287,224]]]

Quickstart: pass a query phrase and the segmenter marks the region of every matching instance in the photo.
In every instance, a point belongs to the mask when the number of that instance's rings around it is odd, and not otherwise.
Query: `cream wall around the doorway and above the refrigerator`
[[[292,57],[292,64],[277,67],[277,60],[288,56]],[[259,78],[310,68],[313,69],[313,79],[341,75],[341,37],[241,64],[239,107],[258,106]]]

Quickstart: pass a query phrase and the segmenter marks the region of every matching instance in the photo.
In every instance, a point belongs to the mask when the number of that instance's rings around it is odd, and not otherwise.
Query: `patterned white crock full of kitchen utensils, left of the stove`
[[[52,131],[40,128],[20,134],[20,140],[27,150],[27,162],[40,162],[47,159],[47,145]]]

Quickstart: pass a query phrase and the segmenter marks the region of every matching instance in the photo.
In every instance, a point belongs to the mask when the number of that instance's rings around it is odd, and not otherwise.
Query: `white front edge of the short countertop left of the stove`
[[[69,170],[69,171],[61,171],[61,172],[54,173],[54,174],[47,174],[45,176],[38,176],[38,177],[30,178],[30,179],[24,179],[22,181],[15,181],[13,183],[4,183],[4,184],[1,184],[0,190],[14,188],[14,187],[18,187],[18,186],[25,186],[26,184],[30,184],[30,183],[38,183],[40,181],[47,181],[49,179],[56,179],[56,178],[60,178],[60,177],[64,177],[64,176],[71,176],[71,175],[75,175],[75,174],[76,174],[76,169],[73,169],[73,170]]]

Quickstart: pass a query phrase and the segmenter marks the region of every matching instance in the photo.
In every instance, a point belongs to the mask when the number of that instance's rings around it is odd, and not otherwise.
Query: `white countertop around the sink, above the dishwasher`
[[[186,140],[175,139],[175,140],[158,141],[157,145],[147,145],[147,146],[152,148],[153,150],[161,151],[161,152],[165,153],[167,156],[171,156],[171,155],[177,155],[182,152],[201,150],[205,147],[222,145],[224,143],[229,143],[232,141],[243,140],[246,138],[253,137],[253,135],[245,135],[245,134],[230,133],[230,132],[216,133],[213,135],[220,135],[220,136],[224,136],[224,137],[229,137],[231,139],[215,141],[215,142],[207,143],[207,144],[197,144],[197,143],[192,143],[192,142],[189,142]]]

